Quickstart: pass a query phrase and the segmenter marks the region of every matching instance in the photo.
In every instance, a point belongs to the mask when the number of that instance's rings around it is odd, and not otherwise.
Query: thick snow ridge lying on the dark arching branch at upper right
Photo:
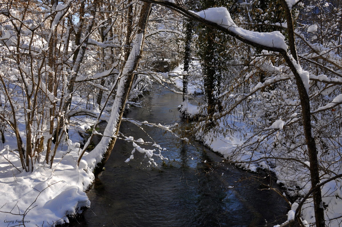
[[[277,47],[287,50],[288,46],[285,43],[285,37],[279,31],[273,32],[256,32],[249,31],[238,27],[233,21],[229,11],[225,7],[209,8],[200,12],[190,11],[199,17],[221,25],[222,27],[234,32],[238,36],[246,40],[258,43],[268,47]]]

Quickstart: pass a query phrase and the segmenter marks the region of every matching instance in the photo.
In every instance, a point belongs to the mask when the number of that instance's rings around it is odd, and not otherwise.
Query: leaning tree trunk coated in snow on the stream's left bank
[[[113,107],[111,108],[111,115],[104,130],[104,137],[102,137],[100,143],[96,145],[94,150],[83,157],[83,159],[88,162],[88,165],[90,165],[90,168],[93,170],[95,175],[102,171],[111,151],[113,150],[116,142],[116,136],[119,133],[119,127],[125,109],[125,103],[128,99],[135,71],[141,58],[150,9],[151,3],[144,2],[140,12],[137,34],[135,35],[135,39],[133,41],[133,47],[130,51],[128,60],[126,61],[121,74],[119,75],[121,78]],[[78,162],[80,162],[83,153],[79,157]]]

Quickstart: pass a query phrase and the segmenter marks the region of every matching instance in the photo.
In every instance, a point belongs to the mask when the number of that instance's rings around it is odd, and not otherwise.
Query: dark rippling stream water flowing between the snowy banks
[[[181,121],[177,112],[181,101],[181,96],[163,91],[146,97],[144,108],[133,108],[126,117],[174,124]],[[147,159],[139,152],[125,163],[133,150],[132,143],[117,140],[106,170],[87,193],[91,207],[79,224],[69,226],[253,227],[286,220],[288,208],[284,200],[272,190],[262,190],[260,181],[250,179],[253,174],[222,162],[219,155],[196,142],[186,144],[165,130],[143,129],[145,132],[124,122],[120,131],[135,140],[142,138],[167,148],[162,152],[169,158],[167,166],[154,157],[159,166],[148,167]],[[260,179],[276,187],[269,177]]]

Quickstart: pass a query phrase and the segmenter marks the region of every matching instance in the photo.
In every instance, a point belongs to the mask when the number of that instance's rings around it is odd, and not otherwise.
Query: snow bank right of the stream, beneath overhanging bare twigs
[[[331,107],[342,100],[342,95],[337,96],[333,101],[323,109]],[[295,116],[295,115],[294,115]],[[310,162],[305,156],[305,147],[301,148],[296,143],[284,144],[281,148],[281,136],[284,128],[288,127],[288,121],[275,120],[269,123],[269,127],[264,128],[264,134],[255,134],[253,128],[243,122],[243,115],[235,113],[234,115],[226,115],[218,120],[219,126],[209,131],[198,130],[195,132],[196,138],[203,142],[213,151],[218,152],[227,158],[229,162],[235,162],[236,166],[249,170],[257,171],[258,168],[272,171],[278,181],[278,184],[284,185],[288,189],[287,193],[290,196],[297,197],[296,202],[300,202],[311,189],[310,181]],[[235,130],[229,130],[234,125]],[[273,136],[267,136],[270,130],[275,130]],[[286,129],[288,130],[288,128]],[[257,135],[257,136],[256,136]],[[295,140],[295,138],[294,138]],[[253,147],[255,143],[264,143],[257,149]],[[249,144],[249,145],[246,145]],[[277,148],[275,148],[277,144]],[[291,149],[291,152],[288,150]],[[320,155],[320,154],[319,154]],[[288,158],[285,162],[277,158]],[[320,156],[321,157],[321,156]],[[274,159],[273,159],[274,158]],[[292,161],[297,159],[302,161]],[[339,166],[339,157],[331,159],[329,169],[333,174],[340,174],[342,170]],[[322,172],[322,181],[325,181],[333,176]],[[340,181],[331,181],[325,184],[322,188],[323,202],[325,204],[325,219],[326,225],[330,227],[338,227],[341,223],[342,210],[342,183]],[[288,212],[288,221],[294,218],[295,209],[298,203],[293,203],[291,210]],[[313,199],[307,199],[301,210],[303,223],[314,223],[314,205]],[[328,221],[329,220],[329,221]]]

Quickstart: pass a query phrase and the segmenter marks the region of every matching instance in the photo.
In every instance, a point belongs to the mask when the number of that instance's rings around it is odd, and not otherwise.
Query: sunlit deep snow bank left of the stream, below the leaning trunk
[[[8,160],[21,166],[18,153],[9,145],[1,150],[0,219],[6,220],[3,226],[24,223],[26,227],[45,227],[69,223],[68,215],[90,207],[84,190],[94,175],[84,161],[77,166],[80,144],[68,142],[67,151],[57,151],[52,168],[40,163],[33,172],[19,172],[9,164]]]

